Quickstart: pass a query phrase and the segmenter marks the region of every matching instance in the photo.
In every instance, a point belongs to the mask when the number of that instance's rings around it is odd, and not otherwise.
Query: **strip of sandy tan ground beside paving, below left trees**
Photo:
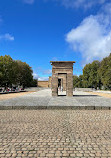
[[[9,94],[0,94],[0,100],[6,100],[11,98],[16,98],[22,95],[26,95],[32,92],[20,92],[20,93],[9,93]]]

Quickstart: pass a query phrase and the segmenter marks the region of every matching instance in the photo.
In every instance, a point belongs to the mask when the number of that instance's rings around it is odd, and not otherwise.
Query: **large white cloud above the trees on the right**
[[[80,52],[84,64],[102,59],[111,52],[111,3],[96,16],[85,18],[66,35],[66,41],[75,52]]]

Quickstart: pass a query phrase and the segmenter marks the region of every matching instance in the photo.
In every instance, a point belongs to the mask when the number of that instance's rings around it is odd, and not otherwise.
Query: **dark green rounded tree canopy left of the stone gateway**
[[[9,55],[0,56],[0,86],[29,87],[33,83],[32,68],[20,60],[13,60]]]

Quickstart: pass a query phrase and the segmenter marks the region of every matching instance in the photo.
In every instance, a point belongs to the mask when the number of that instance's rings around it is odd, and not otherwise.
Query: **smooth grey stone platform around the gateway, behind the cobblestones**
[[[74,92],[73,97],[52,97],[45,89],[17,98],[0,101],[0,109],[111,109],[111,99],[87,92]]]

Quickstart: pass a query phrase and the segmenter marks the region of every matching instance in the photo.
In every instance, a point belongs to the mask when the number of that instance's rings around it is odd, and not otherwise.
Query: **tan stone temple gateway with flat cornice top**
[[[50,61],[52,65],[52,96],[58,96],[62,87],[66,96],[73,96],[73,64],[75,61]]]

